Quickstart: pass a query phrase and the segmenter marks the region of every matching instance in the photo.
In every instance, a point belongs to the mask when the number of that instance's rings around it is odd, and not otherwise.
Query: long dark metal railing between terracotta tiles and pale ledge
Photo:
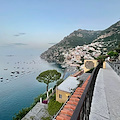
[[[89,82],[88,82],[88,84],[87,84],[87,86],[86,86],[86,88],[81,96],[80,101],[78,102],[78,105],[76,106],[76,109],[71,117],[71,120],[89,120],[94,85],[95,85],[98,71],[99,71],[101,66],[102,66],[102,63],[99,64],[93,70],[91,77],[90,77],[90,80],[89,80]]]

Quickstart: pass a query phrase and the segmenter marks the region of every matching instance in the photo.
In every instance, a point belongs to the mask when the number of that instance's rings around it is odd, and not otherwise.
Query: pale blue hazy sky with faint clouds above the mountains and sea
[[[45,47],[120,20],[120,0],[0,0],[0,46]]]

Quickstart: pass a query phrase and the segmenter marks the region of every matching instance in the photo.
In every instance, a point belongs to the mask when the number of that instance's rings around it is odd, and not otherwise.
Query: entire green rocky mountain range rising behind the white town
[[[56,62],[62,64],[65,56],[63,53],[90,43],[101,43],[101,53],[115,48],[120,43],[120,21],[113,24],[103,31],[82,30],[78,29],[65,37],[56,45],[50,47],[41,54],[41,58],[48,62]]]

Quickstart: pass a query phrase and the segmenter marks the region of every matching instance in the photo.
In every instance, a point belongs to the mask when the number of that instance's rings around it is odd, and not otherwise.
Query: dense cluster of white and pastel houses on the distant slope
[[[64,65],[66,66],[80,66],[85,59],[94,60],[101,55],[103,42],[95,42],[88,45],[77,46],[64,51],[62,54],[65,57]]]

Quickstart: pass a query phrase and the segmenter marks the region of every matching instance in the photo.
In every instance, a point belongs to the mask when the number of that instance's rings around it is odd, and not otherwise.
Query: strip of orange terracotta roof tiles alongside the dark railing
[[[74,110],[76,109],[76,106],[84,92],[84,89],[88,83],[88,80],[90,79],[90,75],[86,79],[86,81],[83,83],[81,87],[78,87],[69,101],[66,103],[64,108],[60,111],[58,116],[56,117],[56,120],[70,120],[71,116],[73,115]]]

